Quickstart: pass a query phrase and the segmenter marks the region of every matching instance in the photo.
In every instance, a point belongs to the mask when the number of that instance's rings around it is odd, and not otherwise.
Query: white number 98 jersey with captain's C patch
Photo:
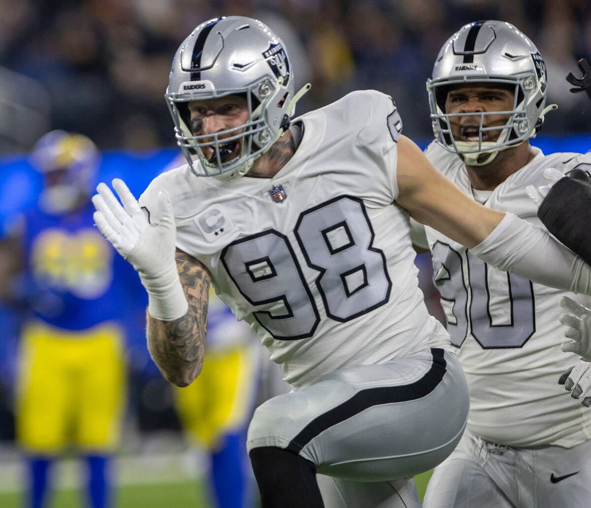
[[[271,179],[163,173],[177,247],[210,271],[216,294],[262,337],[294,388],[342,366],[449,348],[418,289],[407,212],[394,204],[400,116],[357,91],[304,114],[294,156]]]

